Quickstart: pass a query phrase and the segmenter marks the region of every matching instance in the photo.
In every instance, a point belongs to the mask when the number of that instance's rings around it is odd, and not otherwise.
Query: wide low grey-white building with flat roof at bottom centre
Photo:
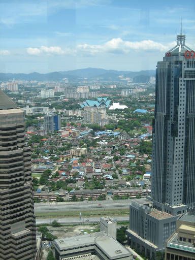
[[[56,260],[131,260],[132,254],[104,232],[56,239]]]

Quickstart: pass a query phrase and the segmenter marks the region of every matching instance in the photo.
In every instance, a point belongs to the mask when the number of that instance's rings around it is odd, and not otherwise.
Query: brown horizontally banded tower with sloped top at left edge
[[[0,259],[34,260],[36,229],[24,112],[0,90]]]

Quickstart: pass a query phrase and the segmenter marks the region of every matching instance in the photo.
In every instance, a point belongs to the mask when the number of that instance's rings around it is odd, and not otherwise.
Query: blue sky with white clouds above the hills
[[[195,49],[194,0],[0,0],[0,73],[154,70],[182,30]]]

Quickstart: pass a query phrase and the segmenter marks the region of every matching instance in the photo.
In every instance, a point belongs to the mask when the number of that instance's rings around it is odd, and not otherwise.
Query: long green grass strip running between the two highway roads
[[[103,215],[114,215],[114,216],[127,216],[129,215],[129,209],[93,209],[93,210],[85,210],[85,211],[57,211],[57,212],[38,212],[36,211],[36,217],[74,217],[80,216],[80,212],[82,216],[91,217],[91,216],[103,216]]]

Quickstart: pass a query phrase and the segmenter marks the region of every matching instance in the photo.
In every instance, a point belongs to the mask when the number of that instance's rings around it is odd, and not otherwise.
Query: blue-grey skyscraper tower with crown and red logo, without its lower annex
[[[156,70],[153,121],[152,199],[172,215],[194,214],[195,206],[195,52],[177,36]]]

